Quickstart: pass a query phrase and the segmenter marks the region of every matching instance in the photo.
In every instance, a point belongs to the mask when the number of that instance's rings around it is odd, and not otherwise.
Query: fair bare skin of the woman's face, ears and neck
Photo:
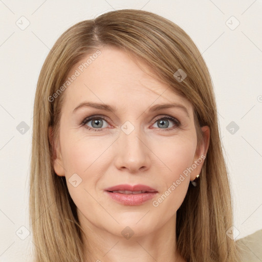
[[[190,180],[200,173],[204,163],[197,165],[168,197],[155,207],[157,200],[183,171],[206,155],[209,128],[202,127],[206,142],[197,148],[193,108],[185,98],[166,84],[149,75],[142,61],[117,48],[100,48],[99,55],[64,91],[59,139],[55,141],[54,170],[65,176],[70,195],[77,206],[79,221],[88,235],[84,240],[86,257],[92,261],[185,261],[176,253],[176,213],[181,206]],[[89,55],[88,55],[89,56]],[[82,59],[74,68],[85,62]],[[112,113],[92,107],[76,108],[81,102],[92,101],[114,105]],[[151,106],[179,103],[178,107],[149,113]],[[81,122],[93,115],[104,116],[102,127],[94,127],[95,119]],[[160,120],[171,116],[181,122]],[[156,120],[156,117],[159,117]],[[121,126],[129,121],[134,130],[127,135]],[[93,126],[92,126],[93,123]],[[99,132],[89,130],[102,129]],[[130,128],[130,127],[128,127]],[[82,181],[69,183],[77,173]],[[115,202],[104,190],[119,184],[144,184],[158,190],[153,200],[138,206]],[[126,239],[121,231],[126,227],[134,235]],[[88,255],[89,254],[89,255]]]

